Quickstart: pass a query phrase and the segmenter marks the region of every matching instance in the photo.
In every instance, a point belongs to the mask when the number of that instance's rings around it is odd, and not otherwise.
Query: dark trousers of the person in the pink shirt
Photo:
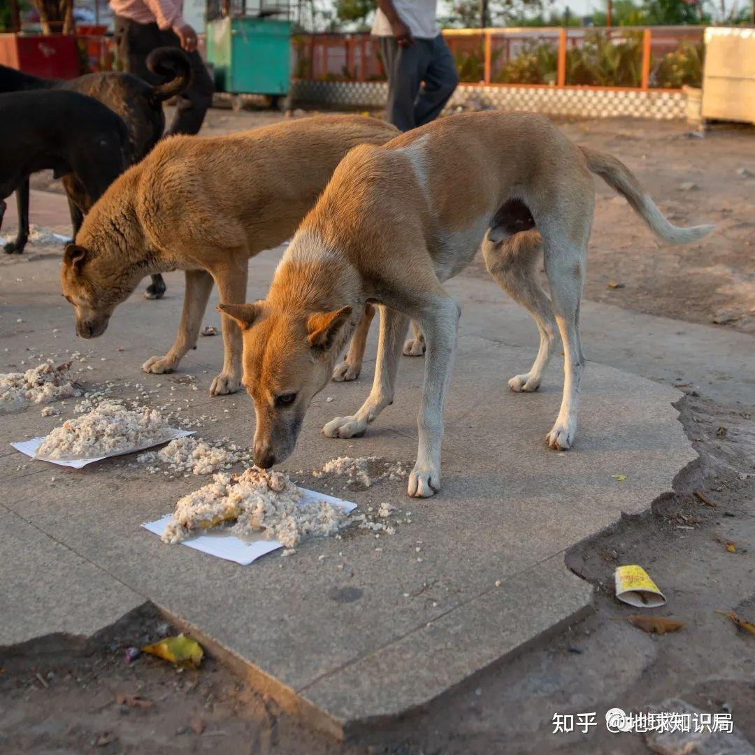
[[[146,67],[146,57],[155,48],[176,47],[181,43],[170,29],[160,31],[156,23],[136,23],[116,17],[116,42],[123,68],[150,84],[161,83]],[[196,134],[202,128],[205,113],[212,104],[214,85],[198,52],[186,53],[192,67],[192,81],[178,95],[173,122],[165,134]]]

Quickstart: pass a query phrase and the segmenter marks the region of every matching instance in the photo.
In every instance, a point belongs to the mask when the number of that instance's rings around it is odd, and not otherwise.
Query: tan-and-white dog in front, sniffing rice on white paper
[[[530,310],[540,330],[537,359],[511,379],[513,390],[540,385],[556,330],[561,334],[563,399],[547,442],[569,448],[585,364],[578,319],[595,204],[590,173],[626,197],[667,242],[691,242],[711,229],[673,226],[625,165],[576,146],[541,116],[451,116],[384,146],[353,149],[304,218],[267,299],[220,305],[244,331],[257,465],[270,467],[291,453],[312,397],[325,387],[365,302],[373,302],[381,331],[372,391],[356,414],[334,419],[323,432],[361,436],[390,404],[408,318],[414,319],[427,361],[408,493],[433,495],[459,317],[442,281],[462,270],[481,242],[493,278]],[[541,246],[551,299],[533,270]]]

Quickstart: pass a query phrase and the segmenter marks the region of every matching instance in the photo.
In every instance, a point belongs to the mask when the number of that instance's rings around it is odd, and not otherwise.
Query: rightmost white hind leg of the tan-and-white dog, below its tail
[[[565,451],[570,448],[577,431],[579,384],[585,359],[579,336],[579,307],[584,284],[584,267],[587,257],[587,237],[584,244],[570,241],[565,236],[552,242],[545,240],[545,271],[550,283],[553,313],[561,333],[564,349],[564,392],[556,424],[545,436],[551,448]]]

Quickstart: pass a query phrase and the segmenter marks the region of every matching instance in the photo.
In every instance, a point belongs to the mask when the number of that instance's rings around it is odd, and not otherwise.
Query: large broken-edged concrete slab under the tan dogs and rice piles
[[[253,260],[250,299],[264,293],[278,257],[270,252]],[[168,299],[134,296],[105,337],[77,342],[72,313],[65,305],[57,309],[58,264],[54,255],[36,260],[26,268],[34,280],[23,286],[9,282],[12,263],[0,266],[0,348],[8,349],[0,351],[3,368],[29,353],[84,346],[92,370],[82,375],[90,384],[109,381],[113,395],[138,396],[172,411],[180,407],[179,418],[201,422],[200,435],[248,445],[254,433],[248,397],[210,399],[205,393],[220,366],[219,337],[201,339],[177,375],[140,373],[143,359],[172,341],[180,276],[168,276]],[[534,334],[525,327],[526,313],[488,307],[483,293],[492,297],[479,281],[462,281],[458,288],[464,316],[441,495],[406,498],[405,482],[344,493],[343,479],[312,476],[340,455],[413,463],[422,359],[402,359],[396,402],[365,438],[333,440],[319,432],[334,415],[353,412],[368,393],[374,334],[362,378],[331,384],[317,397],[285,465],[300,484],[343,495],[362,510],[382,501],[397,506],[395,535],[350,530],[341,539],[302,544],[292,558],[272,554],[247,568],[165,546],[140,523],[171,510],[206,479],[149,476],[133,457],[85,470],[26,464],[6,444],[51,427],[38,408],[7,414],[0,425],[4,502],[34,532],[191,627],[254,683],[318,726],[347,735],[423,704],[588,611],[590,589],[565,569],[565,551],[622,513],[646,510],[695,458],[672,406],[678,391],[593,362],[575,448],[548,450],[543,437],[560,402],[559,360],[540,392],[510,393],[507,378],[532,362]],[[505,301],[497,289],[496,297]],[[500,342],[509,316],[528,348]],[[207,322],[217,325],[217,313],[210,311]],[[56,334],[54,327],[60,328]],[[186,374],[196,380],[186,381]],[[69,402],[66,411],[71,407]],[[17,468],[21,464],[26,466]],[[627,479],[618,482],[614,474]],[[24,589],[12,559],[4,559],[0,572],[2,584]],[[49,584],[40,578],[48,593],[56,589],[54,575]],[[122,602],[123,613],[133,607],[130,597]],[[112,621],[108,606],[100,614],[103,624]],[[14,621],[26,620],[18,614]],[[44,633],[45,627],[30,624],[28,631]]]

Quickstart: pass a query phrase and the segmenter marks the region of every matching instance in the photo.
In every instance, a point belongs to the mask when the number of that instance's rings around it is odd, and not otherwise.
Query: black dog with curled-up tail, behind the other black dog
[[[169,79],[159,86],[149,85],[129,73],[90,73],[69,82],[39,79],[7,66],[0,66],[0,93],[12,91],[65,89],[88,94],[113,112],[118,113],[128,129],[131,162],[138,162],[155,146],[165,130],[162,103],[180,94],[191,81],[191,63],[183,51],[175,48],[157,48],[147,58],[147,66],[154,74]],[[81,189],[72,177],[63,177],[63,186],[69,199],[73,236],[82,224]],[[29,239],[29,180],[17,187],[18,235],[14,242],[5,245],[8,254],[21,254]],[[159,299],[165,293],[165,282],[160,275],[152,276],[152,285],[144,294]]]

